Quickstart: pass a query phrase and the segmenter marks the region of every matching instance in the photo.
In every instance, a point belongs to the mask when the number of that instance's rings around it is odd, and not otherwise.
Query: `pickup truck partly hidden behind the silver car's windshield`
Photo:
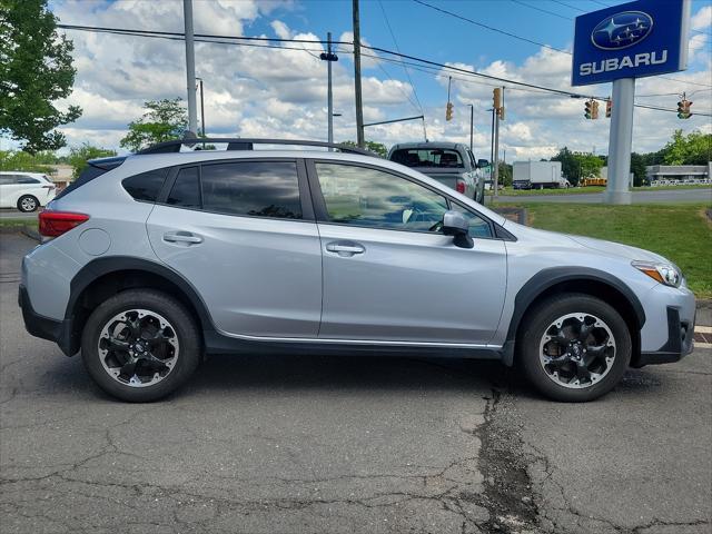
[[[475,160],[466,145],[459,142],[402,142],[394,145],[388,159],[423,172],[457,192],[483,204],[485,176],[490,165],[485,159]]]

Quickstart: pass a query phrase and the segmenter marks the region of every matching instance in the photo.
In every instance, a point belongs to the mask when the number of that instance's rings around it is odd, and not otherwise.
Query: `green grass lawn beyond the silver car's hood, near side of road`
[[[507,205],[511,206],[511,205]],[[683,270],[698,298],[712,298],[712,224],[709,204],[601,206],[528,204],[535,228],[596,237],[645,248]]]

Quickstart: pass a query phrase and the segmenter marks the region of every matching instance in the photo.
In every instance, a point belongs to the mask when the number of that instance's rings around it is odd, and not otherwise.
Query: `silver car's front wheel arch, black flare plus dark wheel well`
[[[623,317],[633,342],[634,365],[640,355],[640,330],[645,324],[645,312],[633,290],[620,278],[589,267],[553,267],[530,278],[516,294],[514,313],[507,329],[504,363],[514,363],[514,350],[522,319],[540,301],[552,295],[583,293],[612,305]]]

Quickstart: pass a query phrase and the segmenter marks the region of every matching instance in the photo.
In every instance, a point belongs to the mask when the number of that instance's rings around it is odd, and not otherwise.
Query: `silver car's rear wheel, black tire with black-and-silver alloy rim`
[[[107,299],[91,313],[81,336],[89,375],[106,393],[130,403],[175,392],[200,356],[200,333],[191,315],[152,289],[129,289]]]

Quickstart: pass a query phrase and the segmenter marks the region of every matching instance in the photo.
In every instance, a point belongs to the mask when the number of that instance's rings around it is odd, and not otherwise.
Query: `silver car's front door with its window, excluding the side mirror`
[[[354,164],[312,167],[324,255],[319,337],[486,345],[500,323],[506,250],[490,221],[404,176]],[[318,185],[317,185],[318,184]],[[471,218],[472,249],[439,230]]]

